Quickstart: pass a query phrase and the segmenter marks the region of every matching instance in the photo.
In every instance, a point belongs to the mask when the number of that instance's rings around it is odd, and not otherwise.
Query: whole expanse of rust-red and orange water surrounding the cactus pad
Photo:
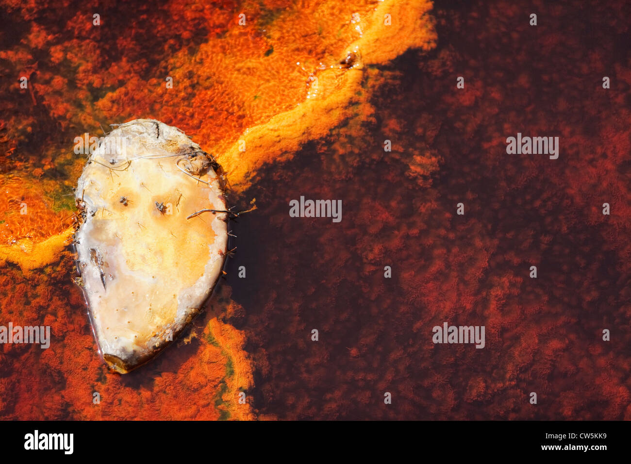
[[[437,2],[437,43],[420,16],[424,47],[399,50],[401,36],[386,52],[351,21],[379,4],[3,3],[6,244],[62,232],[85,161],[74,136],[134,117],[223,157],[233,203],[257,210],[232,224],[237,254],[206,314],[126,376],[98,358],[68,252],[35,270],[4,263],[2,323],[48,324],[53,342],[3,345],[0,417],[631,417],[628,6]],[[361,69],[317,69],[358,40]],[[306,101],[310,76],[319,104]],[[560,136],[559,159],[507,155],[517,132]],[[239,140],[257,149],[239,155]],[[301,195],[341,199],[343,219],[290,217]],[[434,345],[443,321],[485,325],[485,349]]]

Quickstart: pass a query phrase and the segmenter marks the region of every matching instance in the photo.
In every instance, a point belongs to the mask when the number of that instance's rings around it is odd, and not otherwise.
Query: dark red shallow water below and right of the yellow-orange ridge
[[[365,112],[232,196],[257,210],[232,223],[227,276],[188,342],[138,371],[105,372],[71,256],[4,266],[3,319],[57,342],[4,345],[1,417],[251,418],[226,393],[251,371],[261,419],[629,419],[630,12],[560,3],[532,28],[533,8],[437,3],[435,50],[373,67]],[[560,157],[507,155],[517,132],[560,136]],[[341,199],[341,222],[290,217],[300,196]],[[433,344],[444,321],[486,326],[485,348]]]

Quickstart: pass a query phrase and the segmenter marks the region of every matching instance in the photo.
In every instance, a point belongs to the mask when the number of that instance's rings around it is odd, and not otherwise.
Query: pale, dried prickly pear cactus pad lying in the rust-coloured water
[[[103,359],[125,373],[198,314],[223,267],[214,160],[177,128],[136,119],[100,140],[75,191],[78,283]]]

